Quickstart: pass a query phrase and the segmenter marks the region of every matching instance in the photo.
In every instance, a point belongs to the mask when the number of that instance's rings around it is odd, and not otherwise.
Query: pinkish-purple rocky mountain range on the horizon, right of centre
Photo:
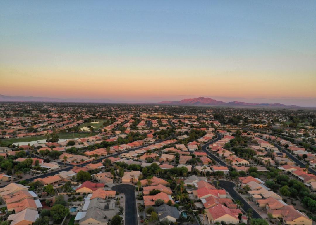
[[[280,103],[247,103],[247,102],[223,102],[212,98],[186,98],[180,101],[163,101],[157,104],[165,105],[212,105],[212,106],[265,106],[265,107],[300,107],[296,105],[284,105]]]

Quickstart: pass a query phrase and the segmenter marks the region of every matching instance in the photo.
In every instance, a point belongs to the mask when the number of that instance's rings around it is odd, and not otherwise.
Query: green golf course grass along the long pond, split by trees
[[[81,132],[81,133],[58,133],[59,139],[71,139],[71,138],[86,138],[97,134],[96,132]],[[45,139],[45,136],[36,136],[36,137],[26,137],[26,138],[10,138],[10,139],[2,139],[1,146],[12,145],[15,142],[30,142]]]

